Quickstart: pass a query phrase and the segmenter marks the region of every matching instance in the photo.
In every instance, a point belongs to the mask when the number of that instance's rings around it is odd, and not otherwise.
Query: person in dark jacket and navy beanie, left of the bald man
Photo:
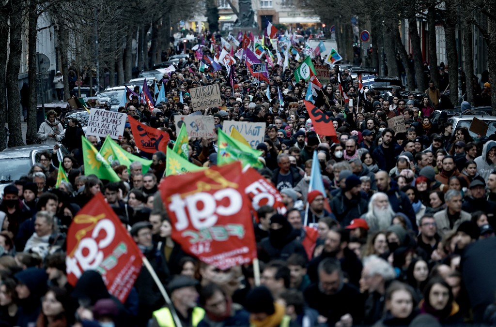
[[[360,193],[362,182],[356,175],[345,179],[345,187],[331,200],[331,212],[342,226],[347,226],[354,218],[367,212],[367,200]]]

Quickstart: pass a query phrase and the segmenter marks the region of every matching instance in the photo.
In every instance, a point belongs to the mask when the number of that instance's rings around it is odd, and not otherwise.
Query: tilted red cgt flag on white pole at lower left
[[[141,271],[141,251],[101,193],[72,220],[67,232],[67,280],[74,286],[87,270],[102,275],[109,292],[125,302]]]

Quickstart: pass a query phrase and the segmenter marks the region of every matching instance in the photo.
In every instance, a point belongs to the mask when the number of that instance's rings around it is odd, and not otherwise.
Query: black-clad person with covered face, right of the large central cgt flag
[[[274,214],[269,221],[269,236],[261,240],[258,247],[258,258],[263,262],[286,260],[293,253],[298,253],[308,260],[307,252],[297,237],[299,232],[293,230],[288,219]]]

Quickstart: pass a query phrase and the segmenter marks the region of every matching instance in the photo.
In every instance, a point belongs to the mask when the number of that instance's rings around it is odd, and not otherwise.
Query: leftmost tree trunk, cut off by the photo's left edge
[[[0,15],[0,85],[6,84],[6,69],[7,62],[7,40],[8,40],[8,25],[7,15]],[[7,94],[5,87],[0,87],[0,108],[7,108]],[[7,134],[5,133],[5,113],[7,110],[0,110],[0,150],[5,149],[7,144]],[[20,118],[20,117],[19,117]]]

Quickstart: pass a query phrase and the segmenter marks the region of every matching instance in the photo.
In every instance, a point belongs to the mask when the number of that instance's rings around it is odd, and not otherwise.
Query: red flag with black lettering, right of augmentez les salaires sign
[[[147,153],[163,151],[167,153],[169,134],[160,129],[146,126],[131,116],[128,116],[132,136],[139,150]]]

